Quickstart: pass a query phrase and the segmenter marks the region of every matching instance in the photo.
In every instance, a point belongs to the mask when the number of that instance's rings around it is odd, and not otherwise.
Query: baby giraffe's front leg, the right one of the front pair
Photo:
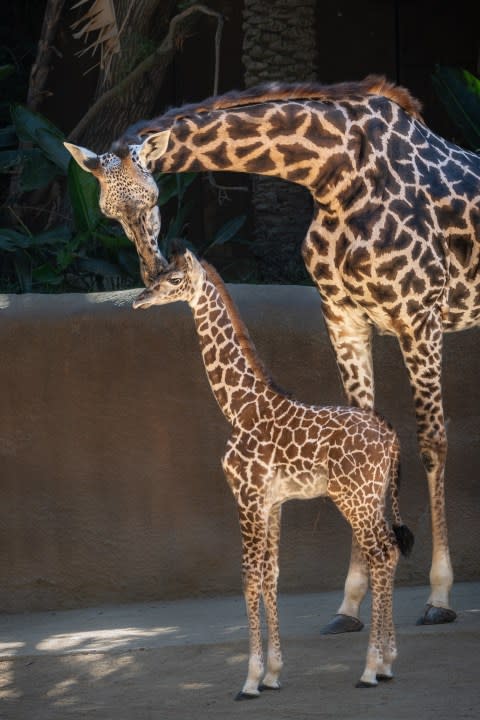
[[[278,690],[283,666],[278,625],[277,584],[281,505],[275,506],[268,520],[267,547],[263,563],[263,602],[268,628],[267,672],[260,690]]]

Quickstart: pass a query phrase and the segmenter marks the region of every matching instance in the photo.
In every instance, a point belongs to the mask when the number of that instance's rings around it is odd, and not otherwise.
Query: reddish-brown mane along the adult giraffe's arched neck
[[[407,113],[423,122],[422,106],[407,88],[396,85],[383,75],[368,75],[363,80],[342,82],[331,85],[320,83],[263,83],[247,90],[232,90],[224,95],[214,95],[198,103],[189,103],[170,108],[153,120],[140,121],[131,125],[115,146],[138,141],[146,136],[171,127],[177,120],[212,112],[258,105],[280,100],[324,100],[336,102],[362,97],[381,95],[400,105]]]

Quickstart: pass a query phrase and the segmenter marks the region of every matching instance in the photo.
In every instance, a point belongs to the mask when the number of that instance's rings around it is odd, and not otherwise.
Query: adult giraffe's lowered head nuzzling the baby
[[[158,248],[160,211],[158,187],[152,170],[165,152],[169,131],[150,135],[140,145],[126,145],[116,153],[97,155],[91,150],[64,143],[83,170],[92,173],[100,185],[100,209],[118,222],[135,243],[143,281],[148,287],[167,261]]]

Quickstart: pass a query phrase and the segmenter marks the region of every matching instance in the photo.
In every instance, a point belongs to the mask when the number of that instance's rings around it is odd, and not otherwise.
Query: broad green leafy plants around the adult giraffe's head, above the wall
[[[10,176],[14,193],[24,196],[55,185],[53,191],[58,197],[66,190],[67,199],[65,207],[56,213],[63,222],[54,227],[38,211],[32,214],[36,227],[29,227],[16,215],[15,202],[7,203],[12,222],[0,228],[3,289],[89,291],[139,284],[132,243],[118,224],[101,214],[98,183],[71,161],[60,130],[19,104],[12,106],[11,119],[12,125],[0,132],[0,172]],[[192,179],[183,177],[164,194],[163,201],[183,193]],[[186,208],[182,212],[184,216]],[[180,223],[179,217],[175,231]],[[167,239],[168,233],[164,241]]]

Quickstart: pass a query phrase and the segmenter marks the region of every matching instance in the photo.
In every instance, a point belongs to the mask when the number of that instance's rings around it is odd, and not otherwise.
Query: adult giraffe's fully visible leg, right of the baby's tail
[[[432,522],[431,592],[417,624],[448,623],[455,620],[456,613],[449,605],[453,571],[445,513],[447,434],[442,402],[443,333],[439,314],[430,313],[399,341],[415,401],[418,445],[427,474]]]

